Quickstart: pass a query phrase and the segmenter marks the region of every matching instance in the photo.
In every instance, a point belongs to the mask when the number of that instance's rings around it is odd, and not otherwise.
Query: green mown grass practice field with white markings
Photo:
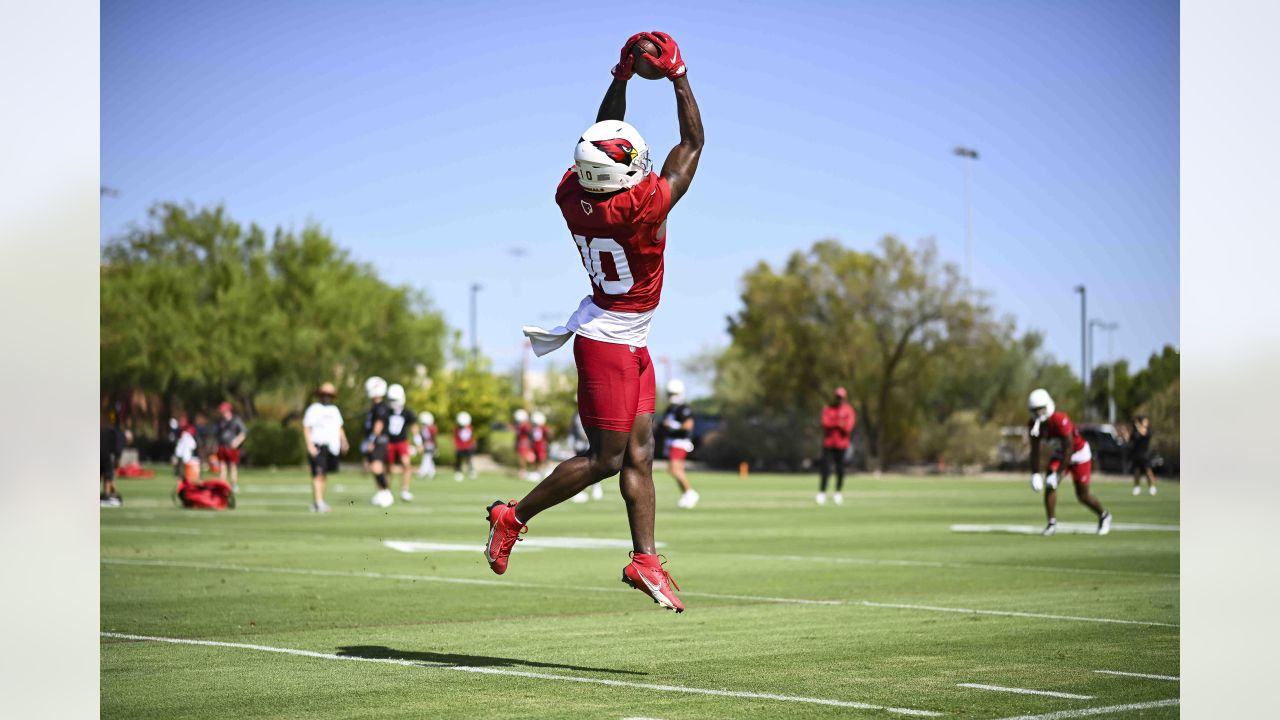
[[[684,615],[618,582],[626,547],[532,542],[626,546],[614,482],[536,518],[497,577],[484,507],[531,487],[509,477],[416,480],[380,510],[348,466],[329,515],[307,512],[303,471],[244,473],[225,512],[174,507],[164,471],[122,480],[125,506],[101,512],[102,715],[1178,716],[1176,483],[1096,479],[1117,529],[1042,538],[952,530],[1042,527],[1020,477],[858,475],[818,507],[815,478],[694,474],[685,511],[655,474]],[[1093,525],[1069,489],[1059,520]]]

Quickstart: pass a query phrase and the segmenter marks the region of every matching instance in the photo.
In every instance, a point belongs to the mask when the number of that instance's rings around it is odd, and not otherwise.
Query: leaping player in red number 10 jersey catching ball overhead
[[[660,174],[652,172],[649,146],[622,122],[627,81],[635,72],[632,44],[648,40],[652,63],[672,82],[680,143],[667,154]],[[667,215],[684,197],[698,170],[703,122],[685,74],[680,47],[662,32],[631,36],[622,46],[613,82],[600,102],[596,123],[579,137],[573,167],[556,190],[556,204],[568,224],[591,282],[591,295],[563,327],[526,327],[539,356],[573,337],[577,406],[590,441],[586,456],[556,466],[520,502],[489,506],[485,559],[507,571],[512,547],[539,512],[573,497],[591,483],[621,473],[621,491],[631,527],[631,562],[622,582],[664,609],[684,611],[680,589],[663,569],[654,546],[653,413],[657,388],[646,347],[649,322],[662,295]]]

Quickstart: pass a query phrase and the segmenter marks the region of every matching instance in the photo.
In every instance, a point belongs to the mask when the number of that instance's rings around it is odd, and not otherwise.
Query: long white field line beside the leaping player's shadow
[[[721,691],[712,688],[690,688],[685,685],[659,685],[652,683],[631,683],[627,680],[608,680],[603,678],[581,678],[576,675],[552,675],[549,673],[526,673],[524,670],[503,670],[500,667],[476,667],[468,665],[433,665],[429,662],[420,662],[416,660],[401,660],[396,657],[355,657],[348,655],[332,655],[328,652],[315,652],[310,650],[294,650],[289,647],[271,647],[265,644],[248,644],[248,643],[230,643],[220,641],[201,641],[201,639],[188,639],[188,638],[164,638],[152,635],[132,635],[127,633],[100,633],[105,638],[116,638],[125,641],[150,641],[150,642],[163,642],[173,644],[195,644],[195,646],[207,646],[207,647],[229,647],[237,650],[256,650],[260,652],[279,652],[282,655],[296,655],[301,657],[314,657],[319,660],[352,660],[357,662],[383,662],[387,665],[406,665],[411,667],[429,667],[436,670],[458,670],[461,673],[479,673],[483,675],[507,675],[513,678],[530,678],[534,680],[564,680],[570,683],[588,683],[593,685],[609,685],[614,688],[640,688],[645,691],[659,691],[671,693],[689,693],[689,694],[709,694],[718,697],[741,697],[749,700],[776,700],[781,702],[804,702],[809,705],[829,705],[835,707],[854,707],[858,710],[884,710],[888,712],[896,712],[899,715],[916,715],[922,717],[937,717],[942,715],[941,712],[934,712],[932,710],[915,710],[911,707],[888,707],[883,705],[872,705],[869,702],[854,702],[846,700],[827,700],[820,697],[801,697],[790,694],[774,694],[774,693],[756,693],[749,691]]]

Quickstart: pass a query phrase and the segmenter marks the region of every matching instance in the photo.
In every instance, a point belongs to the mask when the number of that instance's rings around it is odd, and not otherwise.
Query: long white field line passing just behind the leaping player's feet
[[[461,585],[497,585],[497,587],[515,587],[515,588],[539,588],[539,589],[568,589],[568,591],[581,591],[581,592],[634,592],[627,588],[602,588],[591,585],[557,585],[549,583],[522,583],[520,580],[485,580],[480,578],[448,578],[443,575],[404,575],[404,574],[390,574],[390,573],[369,573],[369,571],[353,571],[353,570],[312,570],[306,568],[252,568],[247,565],[223,565],[219,562],[178,562],[173,560],[124,560],[124,559],[102,559],[102,564],[106,565],[137,565],[137,566],[157,566],[157,568],[193,568],[198,570],[230,570],[237,573],[269,573],[269,574],[293,574],[293,575],[321,575],[330,578],[374,578],[383,580],[422,580],[430,583],[454,583]],[[847,605],[856,607],[888,607],[895,610],[920,610],[927,612],[961,612],[961,614],[974,614],[974,615],[997,615],[1005,618],[1038,618],[1043,620],[1073,620],[1078,623],[1112,623],[1120,625],[1156,625],[1161,628],[1176,628],[1176,624],[1171,623],[1155,623],[1149,620],[1116,620],[1112,618],[1078,618],[1073,615],[1046,615],[1042,612],[1018,612],[1014,610],[977,610],[973,607],[938,607],[933,605],[905,605],[895,602],[872,602],[869,600],[808,600],[800,597],[767,597],[756,594],[727,594],[727,593],[712,593],[712,592],[686,592],[681,591],[680,594],[687,597],[709,597],[717,600],[746,600],[753,602],[778,602],[785,605]]]

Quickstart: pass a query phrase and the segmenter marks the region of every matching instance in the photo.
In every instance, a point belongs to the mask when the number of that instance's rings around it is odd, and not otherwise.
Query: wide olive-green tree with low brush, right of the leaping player
[[[1027,421],[1034,387],[1078,410],[1070,368],[1043,351],[1041,334],[995,318],[932,241],[913,250],[886,237],[878,252],[820,241],[778,270],[756,265],[741,297],[731,345],[713,363],[726,430],[709,456],[722,462],[804,465],[836,386],[849,388],[855,442],[877,468],[980,456],[975,446],[998,425]]]

